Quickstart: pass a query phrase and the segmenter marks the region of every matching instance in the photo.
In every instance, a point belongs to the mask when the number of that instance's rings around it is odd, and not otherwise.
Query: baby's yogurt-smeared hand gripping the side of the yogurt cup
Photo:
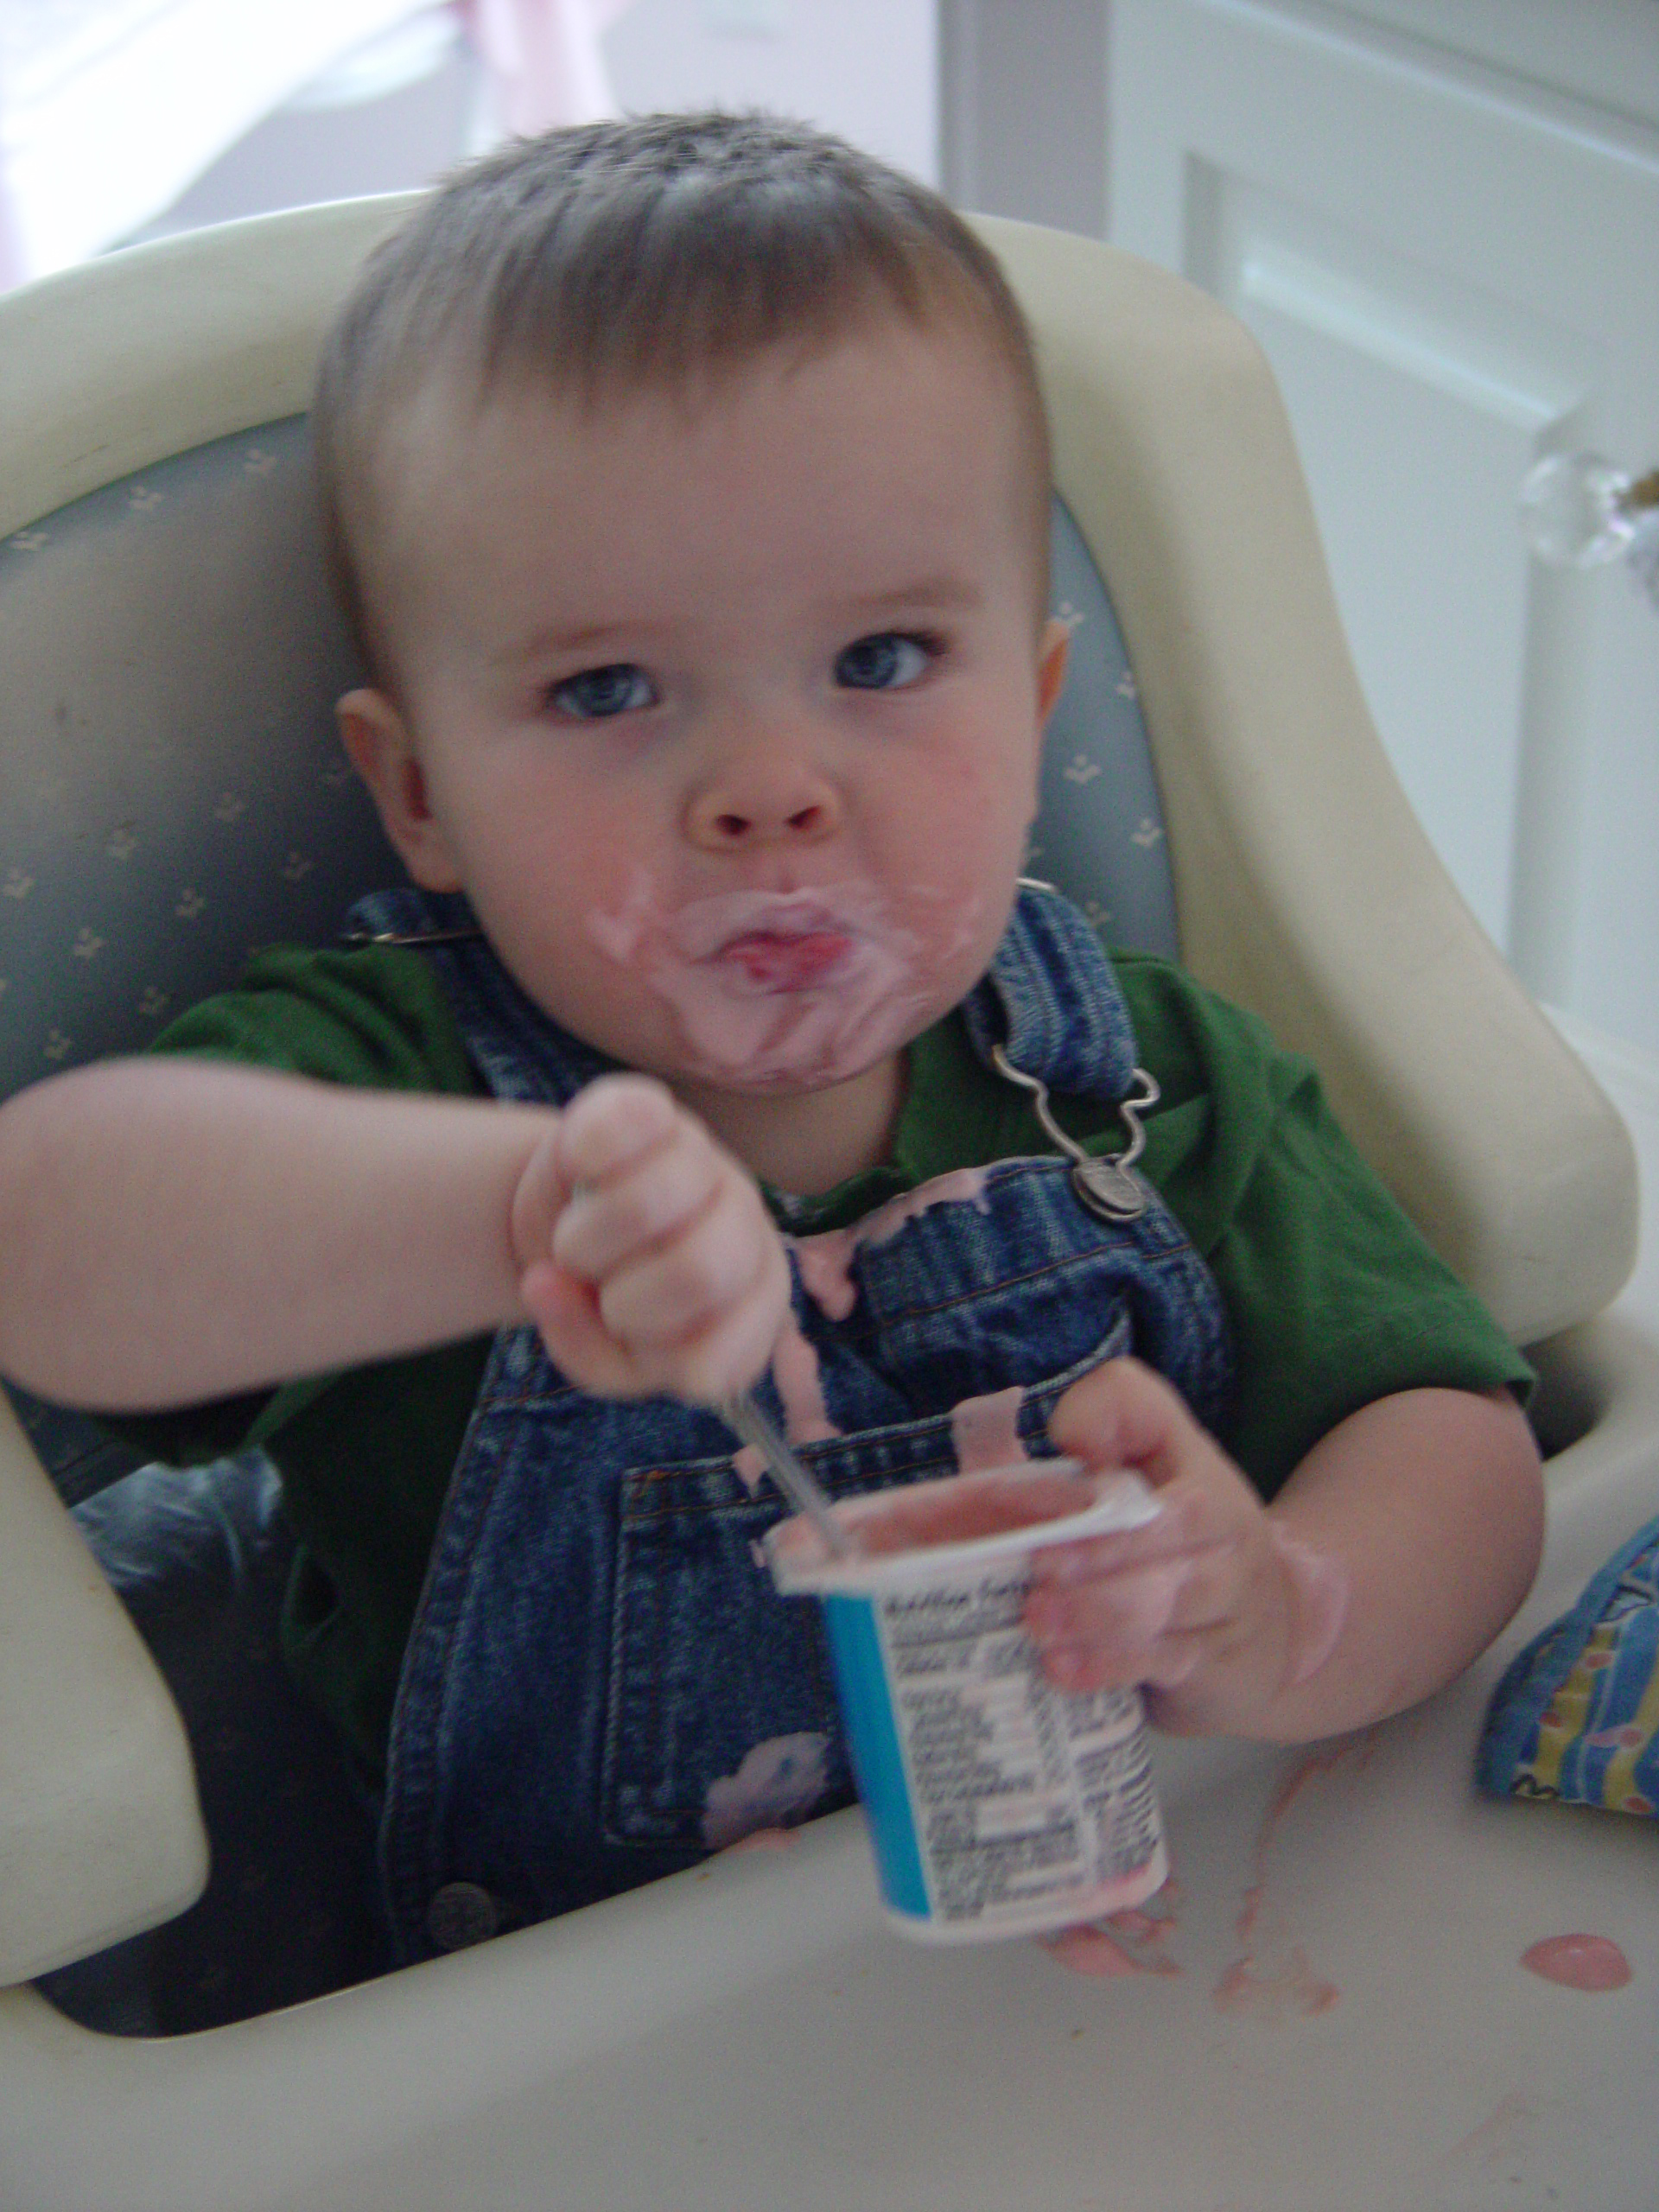
[[[1048,1433],[1086,1467],[1135,1469],[1159,1515],[1033,1559],[1026,1628],[1062,1690],[1144,1683],[1175,1734],[1256,1734],[1343,1626],[1336,1562],[1283,1535],[1186,1402],[1139,1360],[1075,1383]]]

